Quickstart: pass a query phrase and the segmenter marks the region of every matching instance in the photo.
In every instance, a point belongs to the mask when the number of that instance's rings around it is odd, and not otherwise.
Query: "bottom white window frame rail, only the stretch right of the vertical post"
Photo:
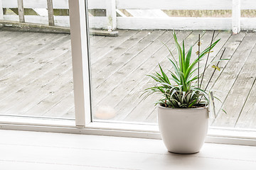
[[[100,130],[111,130],[113,136],[161,139],[159,127],[156,124],[94,122],[87,125],[87,128],[90,128],[91,132],[94,130],[95,134],[92,135],[99,135],[97,132]],[[100,132],[100,135],[104,134]],[[210,127],[206,142],[256,146],[256,130]]]

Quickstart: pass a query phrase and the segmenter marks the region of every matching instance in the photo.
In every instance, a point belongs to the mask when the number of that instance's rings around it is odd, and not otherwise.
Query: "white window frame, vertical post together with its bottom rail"
[[[0,129],[161,139],[156,124],[92,121],[86,0],[69,0],[75,120],[0,115]],[[206,142],[256,146],[255,130],[209,128]]]

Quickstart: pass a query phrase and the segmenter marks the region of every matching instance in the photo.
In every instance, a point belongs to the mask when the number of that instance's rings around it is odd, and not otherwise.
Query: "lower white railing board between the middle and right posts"
[[[117,17],[117,28],[129,30],[231,30],[232,18]]]

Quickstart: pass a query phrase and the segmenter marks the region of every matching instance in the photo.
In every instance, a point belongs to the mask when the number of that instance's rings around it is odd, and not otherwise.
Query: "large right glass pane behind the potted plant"
[[[124,3],[122,1],[122,3]],[[128,3],[128,2],[127,2]],[[151,95],[144,100],[140,97],[144,89],[156,85],[156,82],[148,74],[160,72],[159,65],[171,77],[174,71],[167,57],[171,58],[169,50],[178,60],[178,54],[172,35],[173,28],[162,29],[161,21],[166,21],[168,26],[169,17],[206,17],[206,22],[232,21],[230,10],[173,10],[161,8],[144,10],[118,8],[117,30],[113,29],[113,19],[108,16],[107,7],[97,6],[93,1],[88,1],[90,21],[90,61],[92,70],[92,106],[95,121],[118,121],[136,123],[157,123],[157,109],[154,102],[161,96]],[[120,4],[119,4],[120,5]],[[111,6],[111,4],[108,4]],[[120,5],[121,6],[121,5]],[[122,4],[124,6],[124,4]],[[129,6],[129,4],[127,4]],[[163,6],[163,5],[161,5]],[[212,18],[218,18],[213,20]],[[149,20],[149,18],[151,18]],[[177,18],[176,18],[177,19]],[[181,18],[183,19],[183,18]],[[195,18],[186,18],[188,21]],[[219,20],[220,19],[220,20]],[[142,24],[141,24],[142,23]],[[199,22],[200,23],[200,22]],[[210,52],[206,67],[207,56],[200,62],[200,72],[203,74],[201,89],[211,90],[218,99],[214,100],[216,117],[213,112],[210,115],[210,125],[224,128],[256,128],[255,108],[255,32],[242,31],[233,35],[231,27],[226,26],[223,30],[200,30],[201,25],[191,26],[188,30],[183,20],[179,26],[176,24],[178,42],[185,42],[186,52],[193,47],[191,60],[196,60],[198,51],[198,35],[201,37],[201,51],[220,39]],[[203,28],[206,28],[204,23]],[[159,26],[159,27],[158,27]],[[190,26],[190,25],[189,25]],[[256,27],[255,27],[256,28]],[[183,29],[183,30],[182,30]],[[184,30],[185,29],[185,30]],[[117,36],[113,36],[116,35]],[[169,50],[166,46],[169,47]],[[223,53],[223,51],[225,52]],[[221,55],[223,59],[216,67]],[[218,71],[218,68],[220,71]],[[197,72],[195,72],[197,74]],[[202,77],[201,77],[202,79]],[[200,79],[200,82],[201,82]],[[171,81],[174,83],[174,81]],[[197,81],[194,82],[198,84]],[[175,84],[175,83],[174,83]],[[222,110],[224,109],[224,112]]]

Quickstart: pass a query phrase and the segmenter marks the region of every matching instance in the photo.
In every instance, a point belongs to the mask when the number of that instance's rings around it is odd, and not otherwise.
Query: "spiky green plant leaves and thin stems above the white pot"
[[[184,41],[182,42],[182,47],[181,47],[181,45],[178,44],[175,31],[173,35],[174,35],[174,43],[178,53],[178,62],[175,60],[175,57],[171,53],[171,50],[166,46],[171,54],[171,58],[169,58],[169,61],[171,62],[172,70],[168,70],[171,77],[167,76],[166,72],[164,72],[161,65],[159,64],[160,72],[147,75],[152,79],[154,79],[154,81],[156,81],[156,85],[151,86],[148,89],[145,89],[144,94],[146,95],[144,96],[144,98],[155,93],[161,94],[162,98],[159,101],[156,101],[156,104],[159,103],[161,106],[164,106],[167,108],[196,108],[196,107],[207,106],[208,103],[210,102],[210,99],[212,99],[213,96],[211,96],[212,93],[210,93],[210,91],[207,91],[206,89],[201,89],[203,74],[206,70],[206,67],[204,67],[203,73],[199,74],[199,66],[198,67],[196,66],[199,65],[199,62],[201,61],[202,57],[204,57],[206,54],[208,54],[208,57],[209,57],[209,53],[211,52],[210,50],[213,49],[213,47],[219,42],[220,39],[213,42],[213,38],[212,38],[212,41],[210,42],[210,46],[206,47],[206,49],[200,53],[199,51],[200,51],[201,42],[200,42],[200,35],[199,35],[199,41],[198,41],[199,47],[197,52],[198,57],[196,57],[196,59],[193,60],[193,62],[191,62],[192,46],[189,48],[186,54]],[[214,37],[214,33],[213,33],[213,37]],[[208,60],[208,57],[207,57],[207,60]],[[220,60],[222,60],[221,57],[220,57]],[[209,65],[207,64],[207,60],[206,60],[206,66]],[[218,69],[218,64],[217,66],[215,66],[215,69]],[[198,74],[196,74],[196,71],[198,71]],[[199,85],[200,77],[201,77],[201,84]],[[197,84],[196,84],[196,81],[197,81]]]

